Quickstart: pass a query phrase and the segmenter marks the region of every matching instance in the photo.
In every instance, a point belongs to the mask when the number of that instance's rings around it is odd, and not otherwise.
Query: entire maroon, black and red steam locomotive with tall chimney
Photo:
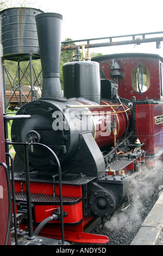
[[[40,99],[13,117],[14,186],[22,236],[106,243],[88,224],[123,206],[133,179],[162,160],[162,66],[155,54],[111,54],[64,64],[62,16],[36,15]],[[35,93],[35,92],[34,92]],[[9,144],[8,143],[8,144]],[[33,233],[34,231],[34,233]],[[64,235],[63,235],[64,234]]]

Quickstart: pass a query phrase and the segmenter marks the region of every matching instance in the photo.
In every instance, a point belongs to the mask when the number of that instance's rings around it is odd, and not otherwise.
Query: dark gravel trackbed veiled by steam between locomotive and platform
[[[135,183],[130,193],[130,206],[126,210],[117,210],[104,225],[96,225],[91,233],[108,236],[109,242],[105,245],[130,245],[162,193],[162,188],[163,172],[159,168],[153,170],[146,181]],[[161,231],[156,245],[163,242],[162,233]]]

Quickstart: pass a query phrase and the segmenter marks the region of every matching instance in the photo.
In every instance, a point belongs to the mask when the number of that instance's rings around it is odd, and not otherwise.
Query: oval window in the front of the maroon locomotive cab
[[[150,74],[147,66],[139,65],[135,66],[132,72],[132,87],[136,92],[144,93],[148,90],[150,85]]]

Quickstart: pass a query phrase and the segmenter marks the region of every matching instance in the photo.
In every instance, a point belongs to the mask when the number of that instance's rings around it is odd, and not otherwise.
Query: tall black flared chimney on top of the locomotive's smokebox
[[[42,99],[63,100],[60,84],[62,15],[42,13],[35,16],[42,65]]]

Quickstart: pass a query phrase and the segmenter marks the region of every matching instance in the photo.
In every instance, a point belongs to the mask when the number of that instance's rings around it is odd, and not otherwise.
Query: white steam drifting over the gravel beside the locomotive
[[[132,181],[133,187],[130,190],[130,206],[128,209],[122,211],[118,210],[110,218],[109,221],[105,222],[105,228],[108,228],[108,231],[117,231],[121,228],[126,228],[129,232],[137,229],[137,226],[142,223],[142,212],[146,211],[143,200],[150,198],[155,190],[155,185],[162,180],[162,162],[158,161],[156,166],[149,174],[147,180],[139,182],[138,180]],[[143,169],[144,171],[144,169]],[[163,185],[163,182],[162,182]],[[161,190],[163,186],[159,186]],[[160,192],[161,193],[161,192]],[[159,196],[160,196],[159,193]],[[148,208],[148,200],[147,205]],[[148,211],[148,209],[147,209]],[[135,225],[134,225],[135,223]]]

